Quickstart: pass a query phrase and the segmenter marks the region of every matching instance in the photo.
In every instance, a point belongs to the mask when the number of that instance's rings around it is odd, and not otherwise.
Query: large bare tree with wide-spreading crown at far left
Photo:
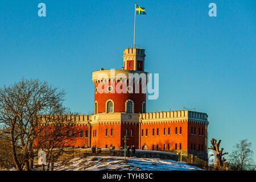
[[[33,143],[47,123],[35,119],[37,115],[63,113],[65,92],[38,79],[22,78],[10,86],[0,89],[0,124],[8,131],[11,158],[16,170],[30,170],[29,161],[35,156]],[[44,124],[44,125],[43,125]]]

